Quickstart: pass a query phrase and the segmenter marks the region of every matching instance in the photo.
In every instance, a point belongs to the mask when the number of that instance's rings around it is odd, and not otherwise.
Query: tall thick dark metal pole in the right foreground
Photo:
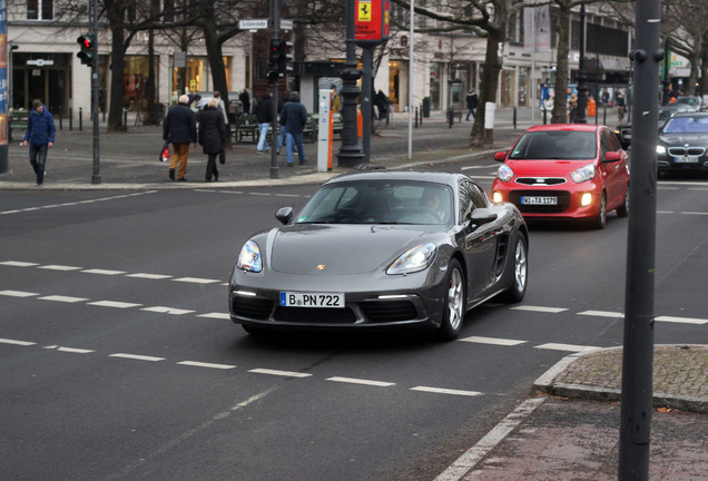
[[[660,0],[637,0],[619,480],[649,479],[656,272]],[[638,81],[641,79],[641,81]]]

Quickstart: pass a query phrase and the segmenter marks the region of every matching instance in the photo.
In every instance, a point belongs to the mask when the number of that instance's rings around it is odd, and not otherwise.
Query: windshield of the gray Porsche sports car
[[[452,189],[444,184],[407,180],[333,183],[305,205],[297,224],[446,225]]]

